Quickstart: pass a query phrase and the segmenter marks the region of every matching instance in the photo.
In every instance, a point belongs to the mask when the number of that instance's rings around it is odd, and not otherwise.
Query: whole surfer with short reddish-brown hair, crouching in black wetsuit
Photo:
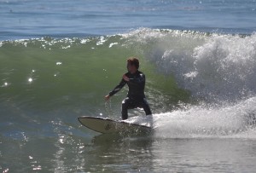
[[[127,60],[128,72],[123,75],[121,82],[108,95],[105,96],[106,101],[108,101],[109,98],[119,92],[119,90],[122,89],[125,84],[128,85],[128,95],[125,100],[122,101],[122,119],[128,118],[128,109],[134,109],[137,107],[142,107],[146,115],[152,114],[144,94],[146,78],[143,72],[138,71],[138,68],[139,61],[137,58],[129,58]]]

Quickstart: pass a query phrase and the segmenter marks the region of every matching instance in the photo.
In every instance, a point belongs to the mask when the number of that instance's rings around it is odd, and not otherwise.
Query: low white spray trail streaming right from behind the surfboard
[[[191,106],[129,118],[130,123],[153,127],[158,138],[251,138],[256,139],[256,97],[232,106]]]

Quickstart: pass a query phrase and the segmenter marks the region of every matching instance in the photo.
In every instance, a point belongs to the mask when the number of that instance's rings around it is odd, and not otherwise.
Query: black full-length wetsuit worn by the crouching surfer
[[[144,95],[146,78],[143,72],[137,71],[134,74],[127,72],[125,73],[125,76],[129,78],[129,81],[127,82],[125,79],[122,79],[119,85],[117,85],[113,91],[109,93],[109,95],[112,96],[119,92],[119,90],[122,89],[125,84],[128,84],[128,95],[127,98],[125,98],[125,100],[122,102],[122,118],[127,119],[128,109],[133,109],[136,107],[143,107],[146,115],[152,114]]]

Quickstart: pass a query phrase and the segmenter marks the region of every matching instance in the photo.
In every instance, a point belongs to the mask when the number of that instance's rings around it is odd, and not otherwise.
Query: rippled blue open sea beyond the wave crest
[[[0,2],[0,40],[84,37],[139,27],[250,34],[254,0],[23,1]]]

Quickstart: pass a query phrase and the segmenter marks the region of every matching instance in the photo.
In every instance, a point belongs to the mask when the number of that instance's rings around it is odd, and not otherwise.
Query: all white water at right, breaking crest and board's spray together
[[[197,100],[171,112],[129,121],[151,125],[160,138],[255,138],[255,34],[142,28],[126,37],[140,43],[138,49],[143,48],[157,72],[173,75],[177,85]]]

